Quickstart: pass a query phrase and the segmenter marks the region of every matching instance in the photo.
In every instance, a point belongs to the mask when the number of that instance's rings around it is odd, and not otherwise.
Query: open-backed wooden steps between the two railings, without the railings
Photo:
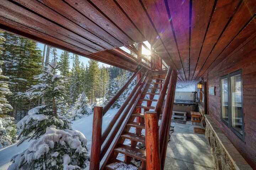
[[[158,102],[155,95],[156,91],[161,90],[161,85],[163,84],[164,79],[158,79],[150,77],[145,89],[139,97],[138,102],[135,104],[132,114],[127,118],[126,124],[123,127],[118,140],[114,143],[113,149],[106,160],[105,169],[114,170],[115,162],[120,163],[120,160],[117,160],[118,154],[124,155],[124,163],[132,164],[132,158],[142,161],[141,168],[142,170],[146,169],[146,151],[136,148],[138,142],[145,143],[145,136],[142,133],[145,129],[144,124],[144,112],[149,110],[154,110],[155,107],[151,106],[152,102]],[[153,84],[154,87],[151,87]],[[146,97],[148,96],[149,97]],[[144,103],[143,103],[144,102]],[[146,103],[145,103],[146,102]],[[143,104],[143,105],[142,105]],[[135,133],[131,132],[131,129],[135,128]],[[125,140],[130,140],[130,145],[124,145]],[[126,142],[127,143],[127,142]]]

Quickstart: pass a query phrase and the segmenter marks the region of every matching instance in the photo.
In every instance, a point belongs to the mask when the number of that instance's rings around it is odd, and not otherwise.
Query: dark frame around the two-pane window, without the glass
[[[240,74],[240,79],[241,79],[241,112],[242,112],[242,135],[235,130],[232,126],[232,103],[231,103],[231,77],[235,75]],[[228,122],[226,122],[222,118],[222,79],[227,78],[228,80]],[[242,84],[242,70],[236,70],[235,72],[231,72],[229,74],[226,74],[222,77],[220,77],[220,119],[225,124],[240,140],[244,142],[245,140],[245,129],[244,129],[244,101],[243,101],[243,84]]]

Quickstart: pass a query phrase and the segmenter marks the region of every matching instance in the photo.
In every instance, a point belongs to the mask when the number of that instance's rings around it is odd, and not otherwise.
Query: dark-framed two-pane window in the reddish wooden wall
[[[222,122],[244,141],[241,70],[221,77],[220,84]]]

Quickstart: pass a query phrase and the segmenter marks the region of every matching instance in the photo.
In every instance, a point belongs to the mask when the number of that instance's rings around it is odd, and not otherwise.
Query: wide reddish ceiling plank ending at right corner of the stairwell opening
[[[89,1],[89,0],[88,0]],[[125,13],[118,7],[117,2],[113,0],[91,0],[108,18],[111,19],[120,29],[123,30],[135,42],[145,41],[145,37],[127,18]],[[133,44],[133,43],[132,43]]]

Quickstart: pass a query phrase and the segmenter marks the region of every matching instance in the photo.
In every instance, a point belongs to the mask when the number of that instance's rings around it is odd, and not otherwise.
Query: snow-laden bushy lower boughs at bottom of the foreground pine
[[[86,168],[89,164],[87,140],[75,130],[59,130],[50,126],[46,133],[24,152],[12,157],[13,164],[8,170],[17,169],[55,169],[75,170]]]

